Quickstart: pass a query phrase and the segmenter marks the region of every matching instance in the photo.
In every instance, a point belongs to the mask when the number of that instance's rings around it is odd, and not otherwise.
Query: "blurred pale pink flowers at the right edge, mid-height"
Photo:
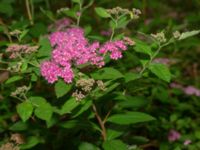
[[[194,86],[183,87],[182,85],[176,84],[176,83],[172,83],[170,86],[172,88],[177,88],[177,89],[182,90],[186,95],[195,95],[195,96],[200,97],[200,89],[197,89]]]

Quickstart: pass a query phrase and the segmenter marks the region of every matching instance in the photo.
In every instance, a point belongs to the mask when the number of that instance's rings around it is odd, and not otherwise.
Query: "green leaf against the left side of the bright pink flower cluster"
[[[48,38],[40,38],[40,48],[38,50],[38,57],[50,57],[51,56],[51,44]]]

